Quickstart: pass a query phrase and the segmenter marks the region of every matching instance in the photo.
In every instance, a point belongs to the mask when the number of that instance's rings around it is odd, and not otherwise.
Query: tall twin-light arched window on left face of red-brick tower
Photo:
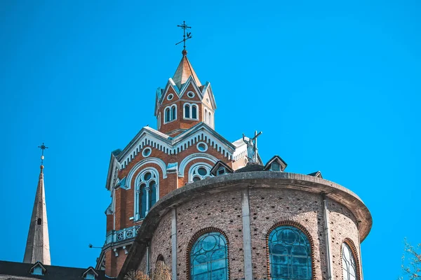
[[[136,218],[145,218],[149,209],[159,200],[158,173],[154,169],[146,169],[138,176],[136,182],[136,200],[138,207],[135,209]]]

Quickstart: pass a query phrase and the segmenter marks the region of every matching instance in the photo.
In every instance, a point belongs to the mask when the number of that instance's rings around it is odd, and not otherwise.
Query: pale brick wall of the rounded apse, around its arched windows
[[[312,239],[313,279],[327,279],[326,245],[323,236],[323,204],[321,195],[300,190],[250,188],[250,232],[253,279],[267,279],[267,236],[277,223],[293,221],[305,228]],[[350,239],[359,250],[358,230],[352,213],[337,202],[330,202],[333,272],[342,279],[340,250],[342,241]],[[243,279],[243,228],[239,190],[203,193],[192,197],[177,209],[178,279],[187,279],[187,246],[203,228],[218,228],[229,242],[230,279]],[[171,267],[171,213],[163,216],[151,242],[151,267],[162,254]],[[359,256],[357,256],[359,258]],[[142,260],[142,262],[145,261]]]

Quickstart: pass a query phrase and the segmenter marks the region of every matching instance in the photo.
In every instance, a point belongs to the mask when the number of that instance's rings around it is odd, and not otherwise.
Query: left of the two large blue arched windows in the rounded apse
[[[228,279],[228,247],[220,232],[207,232],[193,244],[190,254],[190,280]]]

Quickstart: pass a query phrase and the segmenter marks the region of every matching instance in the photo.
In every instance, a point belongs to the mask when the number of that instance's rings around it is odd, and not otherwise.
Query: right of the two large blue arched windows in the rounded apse
[[[269,234],[270,279],[311,280],[312,254],[309,239],[300,229],[281,225]]]

